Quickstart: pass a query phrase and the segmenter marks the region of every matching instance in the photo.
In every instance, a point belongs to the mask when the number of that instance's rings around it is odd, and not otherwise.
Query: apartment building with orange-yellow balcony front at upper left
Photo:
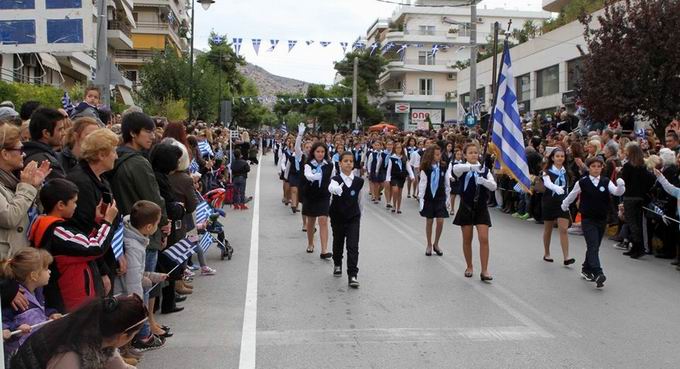
[[[132,16],[136,27],[132,30],[131,49],[114,53],[114,61],[124,76],[139,83],[139,70],[154,53],[172,50],[177,53],[188,50],[186,39],[190,16],[185,0],[135,0]]]

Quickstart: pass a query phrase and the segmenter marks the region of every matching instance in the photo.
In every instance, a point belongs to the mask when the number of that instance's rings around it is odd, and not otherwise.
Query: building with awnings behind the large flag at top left
[[[96,31],[96,1],[92,1],[94,18],[92,31]],[[114,55],[119,50],[132,49],[132,29],[135,20],[132,14],[132,0],[107,0],[107,41],[108,53]],[[96,37],[92,50],[95,49]],[[91,81],[97,66],[94,52],[54,52],[0,55],[0,73],[3,81],[49,84],[69,88],[75,83]],[[125,104],[133,101],[127,89],[131,84],[120,86],[119,97]]]

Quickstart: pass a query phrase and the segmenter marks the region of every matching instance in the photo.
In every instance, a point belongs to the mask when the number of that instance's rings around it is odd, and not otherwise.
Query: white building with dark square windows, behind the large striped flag
[[[552,10],[556,9],[557,3],[561,7],[567,1],[544,1],[544,6],[547,4],[549,7],[546,9]],[[596,18],[601,13],[603,10],[593,14],[593,22],[597,22]],[[575,89],[581,76],[581,50],[587,52],[583,31],[583,25],[574,21],[510,49],[520,113],[545,116],[560,106],[570,110],[574,108]],[[486,109],[493,100],[492,66],[491,58],[477,64],[477,91],[480,98],[484,97]],[[469,68],[458,73],[457,82],[458,102],[467,106]]]

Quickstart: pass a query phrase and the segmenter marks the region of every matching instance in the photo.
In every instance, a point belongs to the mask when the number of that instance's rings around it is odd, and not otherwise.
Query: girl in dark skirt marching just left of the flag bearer
[[[420,216],[426,218],[425,237],[427,248],[425,255],[432,256],[432,251],[442,256],[444,253],[439,248],[439,238],[444,227],[444,218],[449,217],[446,211],[448,203],[447,194],[449,178],[446,175],[446,167],[441,163],[442,150],[437,145],[430,145],[423,153],[420,161],[420,180],[418,181],[418,199],[420,202]],[[437,219],[434,242],[432,242],[432,223]]]

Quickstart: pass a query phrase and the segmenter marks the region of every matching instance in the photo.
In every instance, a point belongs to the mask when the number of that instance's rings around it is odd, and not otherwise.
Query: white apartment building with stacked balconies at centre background
[[[380,75],[384,92],[380,105],[386,119],[405,129],[415,129],[418,117],[429,114],[432,123],[458,118],[458,62],[469,60],[470,7],[461,6],[468,0],[421,0],[416,5],[401,6],[389,19],[378,19],[366,33],[368,48],[378,42],[397,45],[385,57],[390,60]],[[540,25],[550,18],[547,12],[510,11],[504,9],[477,10],[477,42],[485,44],[493,34],[493,24],[521,28],[531,20]],[[408,44],[403,57],[397,49]],[[438,52],[433,55],[433,46]],[[397,112],[400,111],[400,112]]]

